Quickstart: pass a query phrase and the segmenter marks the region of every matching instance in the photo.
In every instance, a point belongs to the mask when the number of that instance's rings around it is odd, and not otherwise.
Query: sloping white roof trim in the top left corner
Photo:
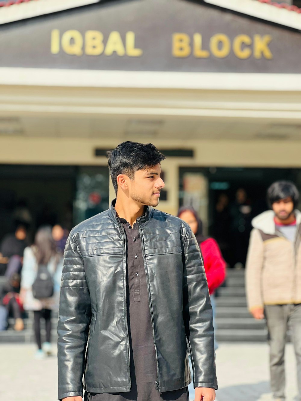
[[[86,6],[87,4],[98,3],[99,1],[100,0],[38,0],[12,4],[9,7],[0,8],[0,24],[51,14],[52,12],[69,10],[69,8]]]

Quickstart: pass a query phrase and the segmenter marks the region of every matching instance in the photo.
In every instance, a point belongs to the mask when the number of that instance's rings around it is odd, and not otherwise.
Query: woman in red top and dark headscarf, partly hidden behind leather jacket
[[[220,287],[226,278],[226,262],[222,257],[222,253],[216,241],[213,238],[205,237],[203,235],[203,223],[197,212],[193,207],[183,206],[178,211],[178,217],[189,224],[191,231],[197,239],[197,243],[201,249],[203,256],[205,273],[208,282],[209,294],[213,311],[213,326],[216,331],[215,324],[215,299],[214,292]],[[218,348],[216,342],[216,333],[214,333],[214,348]],[[189,358],[189,365],[192,372],[191,359]],[[193,383],[188,386],[189,395],[194,399]]]

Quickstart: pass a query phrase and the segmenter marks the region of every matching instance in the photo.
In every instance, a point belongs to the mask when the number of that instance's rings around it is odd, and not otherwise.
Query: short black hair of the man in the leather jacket
[[[119,174],[126,174],[132,180],[136,171],[154,167],[164,159],[165,156],[153,144],[138,142],[122,142],[108,152],[108,166],[116,195]]]

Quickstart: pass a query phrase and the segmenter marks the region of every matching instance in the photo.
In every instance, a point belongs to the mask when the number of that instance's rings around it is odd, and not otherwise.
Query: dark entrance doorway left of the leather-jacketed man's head
[[[28,242],[41,225],[74,225],[108,208],[104,166],[0,165],[0,241],[16,222],[28,223]]]

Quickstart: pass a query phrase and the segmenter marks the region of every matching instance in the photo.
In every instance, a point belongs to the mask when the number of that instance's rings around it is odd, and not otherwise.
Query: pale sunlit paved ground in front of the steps
[[[57,359],[35,360],[32,344],[0,345],[0,399],[55,401]],[[217,401],[270,401],[266,344],[223,343],[216,352]],[[295,357],[287,346],[287,401],[297,400]]]

